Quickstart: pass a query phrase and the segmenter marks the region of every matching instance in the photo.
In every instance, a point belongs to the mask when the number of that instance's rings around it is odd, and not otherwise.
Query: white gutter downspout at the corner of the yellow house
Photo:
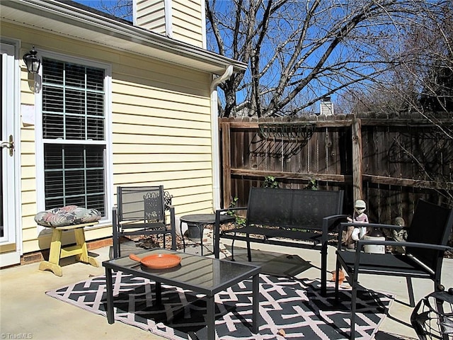
[[[226,67],[222,76],[214,79],[211,93],[211,130],[212,130],[212,198],[214,210],[220,209],[220,149],[219,149],[219,110],[217,106],[217,86],[233,74],[233,65]]]

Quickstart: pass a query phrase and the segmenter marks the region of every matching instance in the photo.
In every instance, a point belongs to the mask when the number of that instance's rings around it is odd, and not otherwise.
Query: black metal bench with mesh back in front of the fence
[[[320,250],[321,293],[325,295],[328,239],[335,238],[333,232],[347,216],[342,214],[343,196],[343,191],[251,188],[247,208],[216,211],[214,254],[218,259],[221,238],[233,240],[233,259],[234,240],[247,242],[248,261],[251,242]],[[220,231],[220,215],[235,210],[247,210],[246,225]]]

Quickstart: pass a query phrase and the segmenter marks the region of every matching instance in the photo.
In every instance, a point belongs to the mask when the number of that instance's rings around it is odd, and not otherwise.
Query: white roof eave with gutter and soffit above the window
[[[72,1],[1,0],[0,13],[1,21],[213,74],[224,74],[229,65],[233,65],[234,72],[247,67],[243,62],[133,26],[129,21]]]

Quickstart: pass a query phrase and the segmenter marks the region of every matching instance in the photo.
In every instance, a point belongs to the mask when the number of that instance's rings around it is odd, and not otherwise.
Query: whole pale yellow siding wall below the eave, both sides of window
[[[210,74],[10,23],[2,23],[1,35],[21,40],[21,55],[35,45],[38,54],[47,50],[111,65],[112,195],[116,186],[163,184],[177,216],[212,212]],[[25,67],[21,104],[35,104]],[[28,253],[49,248],[50,232],[38,236],[33,219],[38,212],[35,125],[21,124],[20,142],[23,252]],[[65,234],[65,243],[74,242]],[[111,221],[86,229],[87,240],[111,234]]]

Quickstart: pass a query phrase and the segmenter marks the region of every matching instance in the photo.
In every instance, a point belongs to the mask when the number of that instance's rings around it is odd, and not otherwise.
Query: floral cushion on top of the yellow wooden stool
[[[38,212],[35,222],[45,227],[63,227],[65,225],[80,225],[82,223],[101,220],[101,212],[96,209],[86,209],[77,205],[67,205]]]

